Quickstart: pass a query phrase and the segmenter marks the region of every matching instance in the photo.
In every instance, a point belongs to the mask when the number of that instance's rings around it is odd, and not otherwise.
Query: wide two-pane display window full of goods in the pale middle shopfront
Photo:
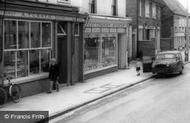
[[[116,36],[97,36],[85,38],[85,73],[114,65],[117,65]]]

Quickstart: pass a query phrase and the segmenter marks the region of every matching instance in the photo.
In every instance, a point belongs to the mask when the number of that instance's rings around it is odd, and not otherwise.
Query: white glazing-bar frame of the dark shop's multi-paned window
[[[5,39],[4,39],[4,34],[5,34],[5,21],[15,21],[16,22],[16,24],[17,24],[17,26],[16,26],[16,30],[17,30],[17,32],[16,32],[16,49],[5,49],[4,48],[4,45],[5,45]],[[19,25],[18,25],[18,23],[19,22],[28,22],[29,23],[29,47],[28,48],[19,48],[19,39],[18,39],[18,35],[19,35]],[[32,48],[31,47],[31,23],[32,22],[39,22],[40,23],[40,30],[41,30],[41,34],[40,34],[40,47],[37,47],[37,48]],[[50,24],[50,34],[51,34],[51,44],[50,44],[50,46],[48,46],[48,47],[43,47],[43,45],[42,45],[42,23],[49,23]],[[5,52],[15,52],[15,66],[14,66],[14,68],[15,68],[15,78],[14,78],[14,81],[15,82],[17,82],[17,80],[22,80],[22,78],[24,78],[24,81],[27,81],[28,80],[28,78],[30,78],[31,76],[34,76],[33,78],[34,79],[39,79],[39,78],[46,78],[47,77],[47,73],[45,73],[45,72],[43,72],[42,71],[42,68],[41,68],[41,52],[42,52],[42,50],[49,50],[50,52],[50,58],[51,58],[51,51],[52,51],[52,47],[53,47],[53,22],[51,22],[51,21],[40,21],[40,20],[26,20],[26,19],[9,19],[9,18],[6,18],[6,19],[4,19],[4,21],[3,21],[3,64],[4,64],[4,53]],[[38,74],[30,74],[30,51],[32,51],[32,50],[35,50],[35,51],[38,51],[39,52],[39,73]],[[19,51],[26,51],[27,52],[27,55],[28,55],[28,64],[27,64],[27,71],[28,71],[28,73],[27,73],[27,75],[26,76],[24,76],[24,77],[18,77],[18,60],[17,60],[17,58],[18,58],[18,52]],[[3,67],[5,67],[5,66],[3,66]],[[39,76],[39,77],[35,77],[35,76]],[[23,82],[24,82],[23,81]],[[29,81],[31,81],[31,79],[29,80]]]

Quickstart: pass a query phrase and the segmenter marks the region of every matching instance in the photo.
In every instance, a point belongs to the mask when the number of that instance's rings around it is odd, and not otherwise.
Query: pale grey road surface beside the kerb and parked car
[[[86,106],[58,123],[189,123],[190,64],[182,75],[148,80]]]

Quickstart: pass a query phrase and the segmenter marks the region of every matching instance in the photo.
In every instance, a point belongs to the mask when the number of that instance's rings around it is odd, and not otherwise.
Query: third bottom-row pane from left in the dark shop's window
[[[39,51],[30,51],[30,74],[39,73]]]

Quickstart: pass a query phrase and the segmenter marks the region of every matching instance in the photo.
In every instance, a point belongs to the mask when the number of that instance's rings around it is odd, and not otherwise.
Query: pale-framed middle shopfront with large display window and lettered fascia
[[[126,68],[130,19],[91,16],[85,27],[85,78]]]

